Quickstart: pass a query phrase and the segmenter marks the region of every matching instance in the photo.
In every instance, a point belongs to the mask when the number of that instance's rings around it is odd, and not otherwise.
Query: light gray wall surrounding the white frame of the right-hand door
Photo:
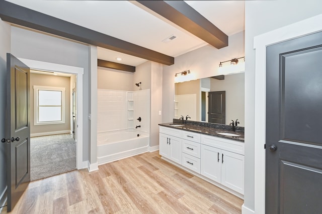
[[[322,14],[320,0],[245,1],[245,196],[244,205],[254,210],[254,90],[255,36]],[[320,25],[320,23],[318,23]],[[256,210],[255,210],[255,213]]]

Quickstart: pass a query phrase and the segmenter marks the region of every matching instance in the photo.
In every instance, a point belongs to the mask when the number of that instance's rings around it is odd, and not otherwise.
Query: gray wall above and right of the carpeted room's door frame
[[[89,46],[34,31],[12,27],[11,52],[18,58],[84,68],[83,160],[89,160]]]

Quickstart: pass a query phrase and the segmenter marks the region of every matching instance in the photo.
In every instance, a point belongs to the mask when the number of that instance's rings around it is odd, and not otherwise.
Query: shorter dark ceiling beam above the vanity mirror
[[[167,20],[220,49],[228,46],[228,36],[184,1],[136,1]]]

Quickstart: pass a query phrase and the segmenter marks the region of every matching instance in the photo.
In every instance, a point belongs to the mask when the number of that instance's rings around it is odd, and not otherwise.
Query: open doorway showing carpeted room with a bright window
[[[31,181],[76,169],[75,82],[73,74],[30,69]]]

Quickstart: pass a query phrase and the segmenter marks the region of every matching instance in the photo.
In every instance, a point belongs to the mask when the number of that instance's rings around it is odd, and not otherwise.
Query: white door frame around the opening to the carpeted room
[[[83,161],[83,74],[84,68],[60,65],[55,63],[48,63],[36,60],[29,60],[18,58],[25,63],[30,69],[41,71],[53,71],[60,73],[68,73],[76,75],[76,167],[77,169],[83,169],[87,167],[87,162]]]

